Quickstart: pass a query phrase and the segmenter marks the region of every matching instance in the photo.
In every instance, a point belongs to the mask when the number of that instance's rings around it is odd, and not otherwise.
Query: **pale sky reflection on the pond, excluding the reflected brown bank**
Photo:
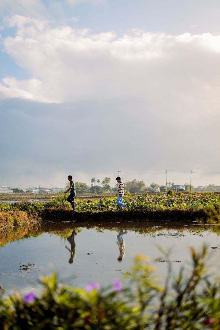
[[[26,291],[38,286],[37,279],[41,273],[49,274],[51,269],[55,269],[59,278],[67,284],[85,287],[90,281],[98,281],[101,285],[107,285],[130,270],[133,257],[138,253],[149,255],[158,274],[165,275],[168,263],[154,262],[154,259],[161,256],[157,246],[165,250],[171,247],[171,261],[181,261],[172,262],[174,271],[189,264],[189,246],[199,249],[207,244],[209,247],[220,248],[220,238],[212,232],[195,235],[170,229],[169,232],[160,231],[160,236],[157,236],[158,232],[143,235],[131,230],[126,233],[121,228],[121,233],[123,235],[116,231],[97,232],[95,229],[82,228],[69,239],[43,233],[39,237],[8,243],[0,248],[0,283],[6,290],[16,287]],[[161,233],[181,233],[185,236],[161,236]],[[213,251],[213,257],[219,258],[220,249],[208,248],[208,251]],[[19,270],[20,265],[27,264],[35,265],[30,266],[30,270]]]

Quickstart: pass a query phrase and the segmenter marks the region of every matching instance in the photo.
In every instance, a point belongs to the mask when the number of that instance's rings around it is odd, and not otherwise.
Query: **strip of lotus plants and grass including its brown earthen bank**
[[[74,212],[67,195],[60,193],[49,201],[30,202],[24,196],[15,203],[0,203],[0,229],[13,228],[34,223],[59,221],[72,222],[114,222],[133,221],[207,221],[220,220],[220,194],[216,193],[173,193],[126,195],[126,211],[120,212],[115,197],[99,199],[76,199]]]

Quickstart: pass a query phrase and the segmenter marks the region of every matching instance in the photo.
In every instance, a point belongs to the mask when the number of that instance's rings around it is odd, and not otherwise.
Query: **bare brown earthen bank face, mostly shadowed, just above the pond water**
[[[30,223],[47,223],[59,221],[73,221],[75,223],[93,223],[97,221],[114,222],[114,221],[170,221],[170,222],[186,222],[194,220],[206,221],[208,218],[205,209],[188,210],[188,209],[169,209],[164,211],[85,211],[74,212],[65,209],[43,209],[37,212],[11,211],[0,212],[0,228],[12,228],[14,226],[25,225]]]

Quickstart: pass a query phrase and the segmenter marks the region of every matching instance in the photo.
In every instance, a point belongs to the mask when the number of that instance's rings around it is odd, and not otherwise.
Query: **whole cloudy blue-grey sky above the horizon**
[[[1,0],[0,186],[220,185],[219,0]]]

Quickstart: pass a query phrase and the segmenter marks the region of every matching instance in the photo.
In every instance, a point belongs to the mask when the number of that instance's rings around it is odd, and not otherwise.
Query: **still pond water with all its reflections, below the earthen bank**
[[[163,277],[168,262],[158,246],[171,248],[173,272],[178,272],[181,266],[189,267],[189,247],[199,250],[203,244],[211,252],[212,266],[219,269],[220,237],[212,225],[131,221],[20,227],[0,233],[0,283],[5,293],[12,288],[37,291],[40,274],[56,271],[61,281],[74,286],[85,287],[91,281],[108,285],[131,270],[138,253],[150,256],[150,264]],[[158,257],[161,260],[155,261]]]

